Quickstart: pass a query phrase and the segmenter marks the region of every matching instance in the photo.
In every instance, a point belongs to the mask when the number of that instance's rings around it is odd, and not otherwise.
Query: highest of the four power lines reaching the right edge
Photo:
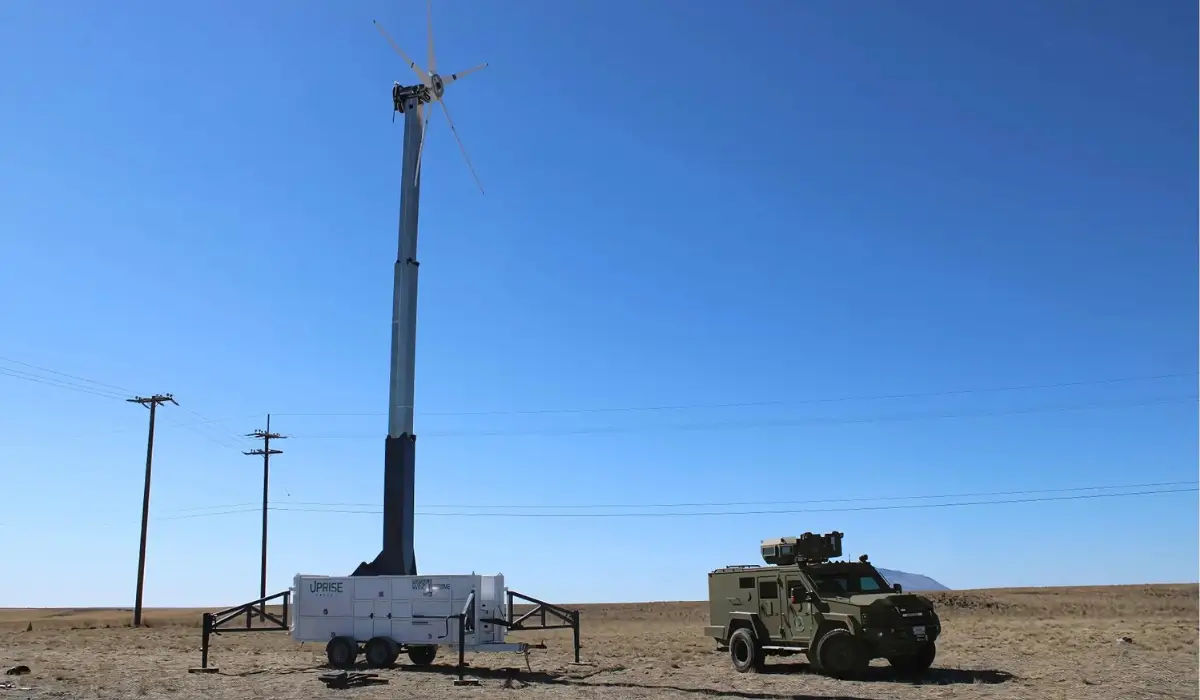
[[[659,406],[614,406],[614,407],[582,407],[582,408],[532,408],[521,411],[442,411],[421,412],[420,415],[539,415],[539,414],[564,414],[564,413],[632,413],[632,412],[656,412],[656,411],[691,411],[704,408],[754,408],[764,406],[804,406],[812,403],[842,403],[852,401],[886,401],[896,399],[930,399],[938,396],[958,396],[967,394],[994,394],[1003,391],[1028,391],[1033,389],[1068,389],[1073,387],[1093,387],[1102,384],[1117,384],[1126,382],[1146,382],[1153,379],[1174,379],[1182,377],[1195,377],[1198,372],[1172,372],[1166,375],[1141,375],[1128,377],[1114,377],[1104,379],[1082,379],[1076,382],[1054,382],[1045,384],[1016,384],[1007,387],[983,387],[973,389],[949,389],[943,391],[916,391],[907,394],[875,394],[865,396],[838,396],[824,399],[780,399],[769,401],[740,401],[731,403],[668,403]],[[410,408],[410,407],[409,407]],[[386,413],[275,413],[276,417],[377,417]]]

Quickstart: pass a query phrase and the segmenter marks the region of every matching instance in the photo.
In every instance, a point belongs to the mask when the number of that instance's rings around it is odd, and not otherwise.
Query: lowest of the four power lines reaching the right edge
[[[1147,491],[1127,491],[1123,493],[1076,493],[1072,496],[1044,496],[1026,498],[1008,498],[1001,501],[958,501],[952,503],[907,503],[890,505],[856,505],[846,508],[809,508],[809,509],[770,509],[770,510],[704,510],[694,513],[418,513],[418,515],[434,517],[708,517],[731,515],[798,515],[810,513],[856,513],[865,510],[919,510],[926,508],[961,508],[974,505],[1001,505],[1013,503],[1045,503],[1056,501],[1086,501],[1096,498],[1129,498],[1136,496],[1151,496],[1158,493],[1186,493],[1195,492],[1200,489],[1157,489]],[[380,515],[382,510],[334,510],[316,508],[271,507],[271,510],[292,513],[332,513],[349,515]],[[251,509],[223,510],[218,513],[199,513],[192,515],[178,515],[163,517],[162,520],[182,520],[187,517],[204,517],[217,515],[232,515],[236,513],[250,513]]]

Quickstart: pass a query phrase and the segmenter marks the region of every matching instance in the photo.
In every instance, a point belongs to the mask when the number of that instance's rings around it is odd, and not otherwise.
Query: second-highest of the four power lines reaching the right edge
[[[565,427],[565,429],[527,429],[527,430],[432,430],[425,431],[427,437],[514,437],[514,436],[571,436],[571,435],[602,435],[622,432],[668,432],[688,430],[744,430],[757,427],[799,427],[805,425],[854,425],[866,423],[893,423],[906,420],[937,420],[950,418],[985,418],[995,415],[1025,415],[1034,413],[1066,413],[1073,411],[1093,411],[1099,408],[1138,408],[1145,406],[1162,406],[1168,403],[1195,402],[1196,396],[1168,396],[1159,399],[1147,399],[1139,401],[1109,401],[1092,403],[1075,403],[1060,406],[1043,406],[1015,409],[992,411],[955,411],[942,413],[907,413],[893,415],[876,415],[865,418],[793,418],[793,419],[766,419],[766,420],[721,420],[706,423],[676,423],[661,425],[611,425],[596,427]],[[277,415],[277,414],[276,414]],[[299,439],[367,439],[374,436],[366,435],[299,435],[293,436]]]

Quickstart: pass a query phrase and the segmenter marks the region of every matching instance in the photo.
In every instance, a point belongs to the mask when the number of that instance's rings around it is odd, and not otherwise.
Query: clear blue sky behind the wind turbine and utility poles
[[[148,605],[257,594],[259,514],[230,507],[268,412],[269,587],[378,551],[412,74],[372,19],[424,62],[416,0],[0,7],[0,355],[121,389],[0,361],[0,605],[132,604],[126,391],[180,402]],[[1176,0],[437,1],[439,68],[490,62],[448,91],[486,195],[438,115],[420,511],[868,501],[420,515],[420,569],[697,599],[761,538],[838,528],[953,587],[1195,580],[1195,491],[829,511],[1195,480],[1195,25]],[[647,406],[691,408],[510,413]]]

